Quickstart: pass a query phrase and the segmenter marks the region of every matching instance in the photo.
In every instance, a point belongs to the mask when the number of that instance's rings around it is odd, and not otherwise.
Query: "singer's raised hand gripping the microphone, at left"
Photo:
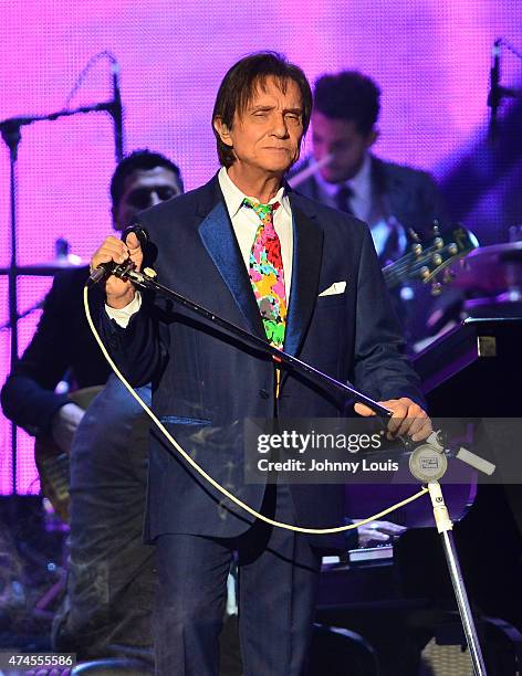
[[[135,270],[142,270],[143,251],[135,233],[130,232],[125,242],[111,235],[91,258],[91,271],[98,267],[102,263],[114,261],[119,264],[125,263],[128,258],[133,261]],[[134,298],[135,288],[130,282],[125,282],[111,275],[105,283],[105,294],[107,296],[107,305],[119,309],[128,305]]]

